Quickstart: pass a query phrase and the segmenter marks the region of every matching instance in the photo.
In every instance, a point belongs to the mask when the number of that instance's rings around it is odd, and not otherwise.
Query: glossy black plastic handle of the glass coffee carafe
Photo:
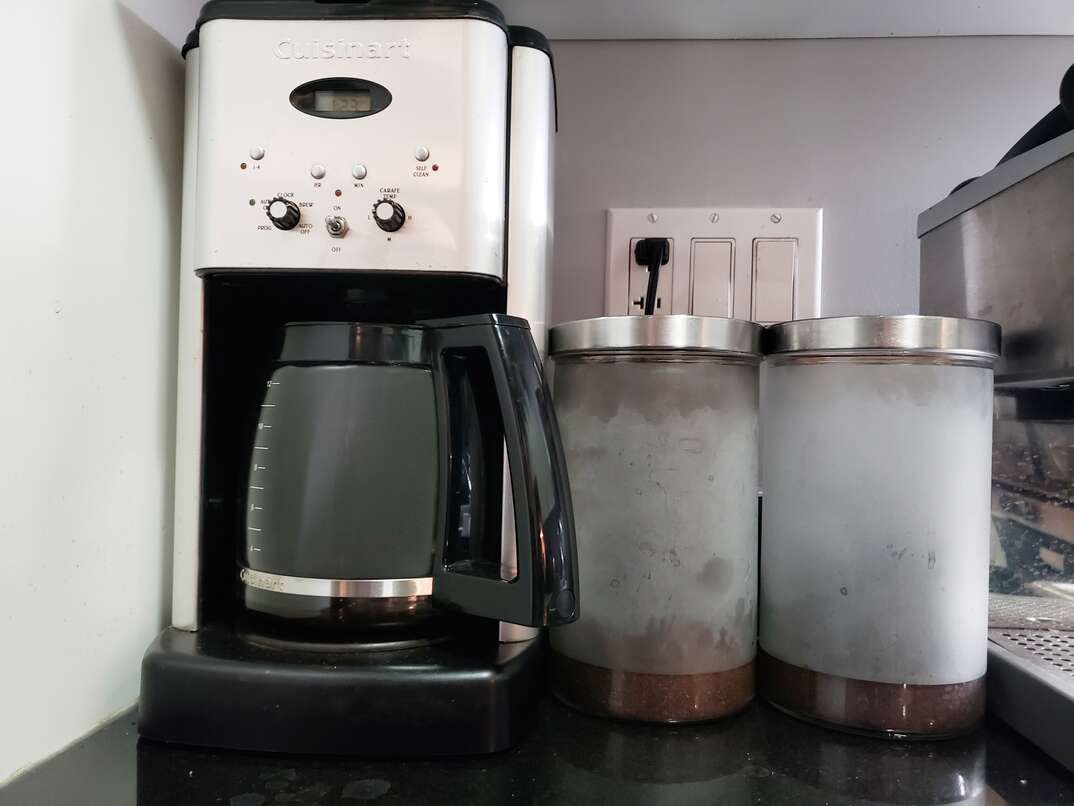
[[[578,562],[567,466],[528,322],[494,314],[422,325],[435,328],[433,375],[440,440],[438,512],[439,522],[447,524],[436,546],[434,601],[462,613],[529,627],[574,621],[578,617]],[[479,418],[481,422],[468,429],[459,422],[466,416],[460,411],[459,371],[448,364],[476,363],[484,357],[503,420],[502,435],[489,422],[494,418]],[[467,469],[461,465],[471,456],[460,444],[464,441],[483,441],[487,451],[498,451],[500,457],[504,442],[507,444],[518,542],[518,576],[511,580],[500,578],[498,564],[481,566],[449,556],[450,542],[462,529],[463,517],[453,512],[459,507],[452,505],[451,488],[456,479],[468,477]],[[498,523],[496,527],[498,535]]]

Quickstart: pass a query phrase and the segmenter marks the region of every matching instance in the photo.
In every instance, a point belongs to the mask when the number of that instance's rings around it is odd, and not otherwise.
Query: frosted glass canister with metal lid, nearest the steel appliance
[[[771,327],[761,404],[761,695],[898,737],[984,716],[992,322]]]

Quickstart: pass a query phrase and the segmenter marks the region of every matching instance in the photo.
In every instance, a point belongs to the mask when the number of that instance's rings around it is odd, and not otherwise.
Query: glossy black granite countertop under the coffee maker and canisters
[[[46,718],[46,717],[45,717]],[[133,711],[0,789],[0,806],[1074,803],[1074,779],[1003,724],[943,743],[847,736],[754,705],[647,726],[548,700],[520,747],[451,761],[212,752],[139,742]]]

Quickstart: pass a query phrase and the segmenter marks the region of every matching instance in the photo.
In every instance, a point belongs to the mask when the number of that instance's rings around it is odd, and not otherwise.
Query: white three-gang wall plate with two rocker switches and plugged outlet
[[[641,313],[649,278],[634,246],[666,238],[671,260],[661,271],[657,313],[766,323],[821,316],[822,215],[816,207],[611,208],[605,315]]]

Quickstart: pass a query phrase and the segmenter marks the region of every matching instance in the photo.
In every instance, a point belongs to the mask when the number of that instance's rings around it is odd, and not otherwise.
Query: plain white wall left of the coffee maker
[[[143,16],[194,6],[3,11],[0,781],[133,703],[164,622],[183,68]]]

